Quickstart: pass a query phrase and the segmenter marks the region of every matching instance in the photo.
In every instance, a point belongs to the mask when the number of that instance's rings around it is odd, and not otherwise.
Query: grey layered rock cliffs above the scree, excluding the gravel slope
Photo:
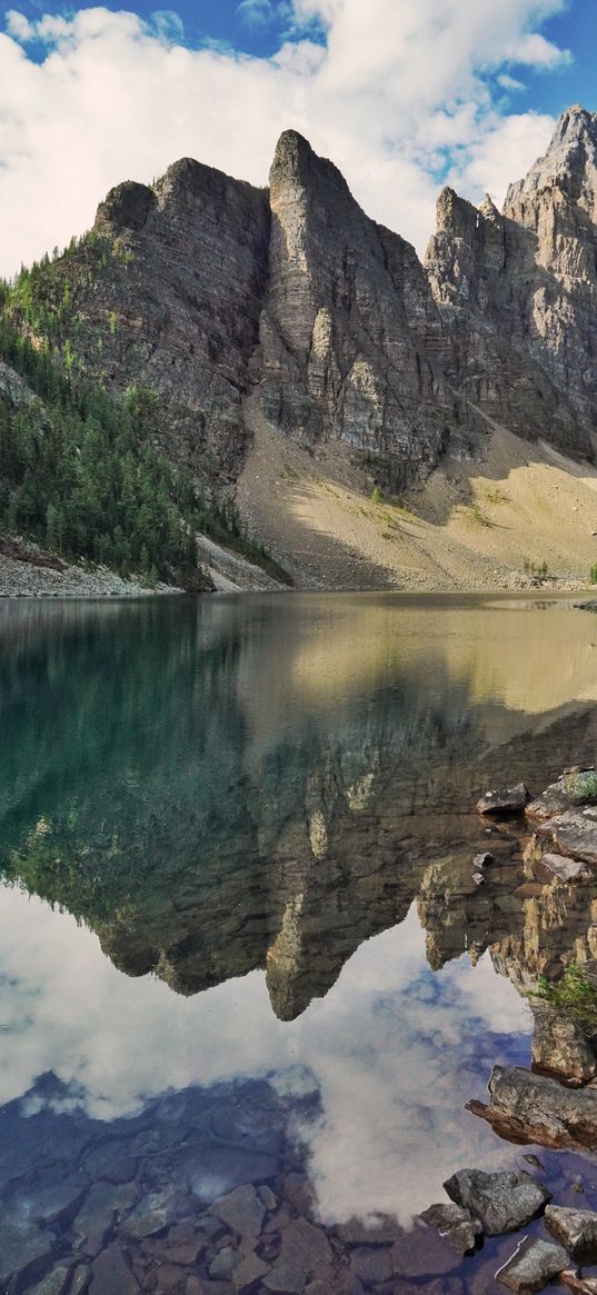
[[[496,423],[591,458],[596,196],[597,117],[570,109],[502,214],[444,189],[423,268],[287,131],[269,190],[189,159],[113,189],[36,275],[26,324],[75,372],[150,386],[159,448],[216,491],[246,456],[247,395],[276,433],[341,443],[395,490],[448,447],[474,457]]]

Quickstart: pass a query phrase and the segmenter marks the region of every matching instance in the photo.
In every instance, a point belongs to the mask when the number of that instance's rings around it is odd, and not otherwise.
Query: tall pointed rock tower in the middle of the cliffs
[[[392,484],[438,462],[455,400],[414,249],[369,220],[341,172],[286,131],[269,176],[269,277],[255,373],[267,420],[376,456]]]

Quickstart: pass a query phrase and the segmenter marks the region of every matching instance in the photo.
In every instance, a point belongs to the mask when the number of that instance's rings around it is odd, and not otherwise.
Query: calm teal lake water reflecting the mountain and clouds
[[[522,1163],[464,1102],[528,1064],[519,989],[592,947],[597,887],[518,895],[518,840],[471,807],[594,754],[596,640],[565,603],[474,598],[0,607],[0,1190],[39,1232],[39,1193],[73,1188],[0,1286],[66,1265],[67,1290],[78,1256],[105,1295],[118,1250],[132,1290],[196,1295],[214,1255],[168,1260],[171,1229],[267,1182],[334,1239],[329,1290],[492,1289],[491,1246],[456,1270],[425,1233],[421,1257],[416,1215],[465,1164]],[[574,1158],[543,1160],[569,1190]],[[373,1282],[346,1225],[376,1215],[409,1257]]]

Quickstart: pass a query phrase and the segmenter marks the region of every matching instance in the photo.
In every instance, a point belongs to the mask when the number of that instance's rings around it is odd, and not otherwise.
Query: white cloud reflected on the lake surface
[[[98,1119],[190,1084],[267,1075],[282,1093],[315,1090],[321,1120],[300,1133],[329,1222],[366,1210],[408,1225],[449,1173],[515,1160],[464,1102],[504,1059],[496,1032],[523,1046],[528,1008],[488,956],[433,975],[414,906],[291,1023],[275,1018],[263,973],[183,998],[117,971],[96,936],[38,899],[0,887],[0,1103],[49,1070]]]

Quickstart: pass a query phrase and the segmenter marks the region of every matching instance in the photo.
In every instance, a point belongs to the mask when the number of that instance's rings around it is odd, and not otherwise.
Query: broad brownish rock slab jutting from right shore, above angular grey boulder
[[[549,1147],[597,1149],[596,1088],[565,1088],[522,1066],[495,1066],[490,1096],[490,1106],[477,1101],[466,1105],[500,1137]]]

